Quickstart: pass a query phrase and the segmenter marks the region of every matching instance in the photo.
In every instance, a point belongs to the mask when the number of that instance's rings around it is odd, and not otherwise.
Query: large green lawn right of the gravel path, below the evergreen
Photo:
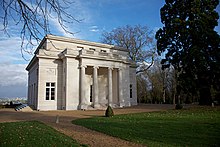
[[[220,109],[197,108],[74,120],[148,146],[220,146]]]

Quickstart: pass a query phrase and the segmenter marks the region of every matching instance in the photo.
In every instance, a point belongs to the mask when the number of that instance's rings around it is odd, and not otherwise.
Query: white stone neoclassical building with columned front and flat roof
[[[28,104],[37,110],[137,105],[135,64],[127,50],[47,35],[28,71]]]

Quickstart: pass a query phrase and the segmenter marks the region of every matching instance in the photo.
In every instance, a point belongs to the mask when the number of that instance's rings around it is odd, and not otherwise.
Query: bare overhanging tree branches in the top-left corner
[[[10,36],[7,31],[9,23],[19,26],[22,56],[24,51],[31,53],[30,46],[33,46],[34,42],[39,42],[45,34],[51,34],[51,19],[56,19],[65,32],[73,34],[66,24],[80,20],[67,12],[71,3],[67,0],[1,0],[2,31]]]

